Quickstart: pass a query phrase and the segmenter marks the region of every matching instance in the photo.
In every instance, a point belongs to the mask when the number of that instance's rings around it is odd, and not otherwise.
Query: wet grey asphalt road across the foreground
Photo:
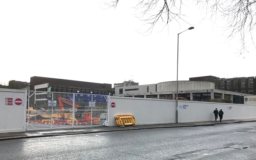
[[[0,160],[255,160],[256,122],[0,141]]]

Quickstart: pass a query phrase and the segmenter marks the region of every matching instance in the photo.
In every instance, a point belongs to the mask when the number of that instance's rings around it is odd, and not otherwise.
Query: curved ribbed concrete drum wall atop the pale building
[[[215,89],[213,82],[205,81],[178,81],[178,91]],[[161,82],[157,84],[157,92],[177,91],[177,82]]]

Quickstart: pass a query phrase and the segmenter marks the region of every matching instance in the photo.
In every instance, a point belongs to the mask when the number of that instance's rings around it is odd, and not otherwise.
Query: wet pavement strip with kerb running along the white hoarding
[[[125,126],[120,128],[119,126],[92,126],[86,128],[73,128],[73,129],[52,129],[41,131],[25,131],[25,132],[11,132],[0,133],[0,141],[7,139],[19,139],[19,138],[34,138],[34,137],[49,137],[49,136],[61,136],[61,135],[76,135],[76,134],[92,134],[99,132],[114,132],[114,131],[129,131],[136,129],[155,129],[155,128],[175,128],[175,127],[195,127],[195,126],[210,126],[221,125],[228,123],[242,123],[242,122],[256,122],[256,119],[236,119],[236,120],[222,120],[220,122],[205,121],[205,122],[190,122],[190,123],[168,123],[157,125],[137,125],[137,126]]]

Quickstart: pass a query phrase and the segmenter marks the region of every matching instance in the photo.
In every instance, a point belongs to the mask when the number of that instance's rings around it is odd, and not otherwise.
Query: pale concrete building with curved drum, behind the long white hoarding
[[[139,98],[160,98],[176,99],[177,82],[160,82],[158,84],[136,85],[115,87],[114,96],[139,97]],[[217,90],[214,82],[206,81],[178,81],[178,98],[182,100],[208,101],[215,98],[224,99],[229,97],[234,103],[242,103],[235,99],[236,96],[243,97],[249,94]],[[235,99],[235,101],[234,101]]]

